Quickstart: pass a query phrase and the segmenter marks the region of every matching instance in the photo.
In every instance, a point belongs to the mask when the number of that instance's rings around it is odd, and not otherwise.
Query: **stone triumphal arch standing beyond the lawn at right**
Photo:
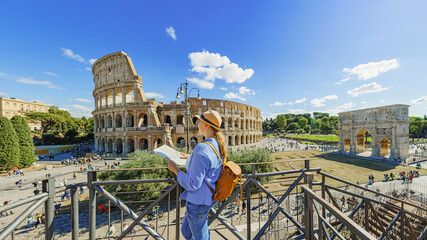
[[[338,113],[339,149],[361,154],[370,142],[371,157],[408,158],[408,108],[409,105],[397,104]]]

